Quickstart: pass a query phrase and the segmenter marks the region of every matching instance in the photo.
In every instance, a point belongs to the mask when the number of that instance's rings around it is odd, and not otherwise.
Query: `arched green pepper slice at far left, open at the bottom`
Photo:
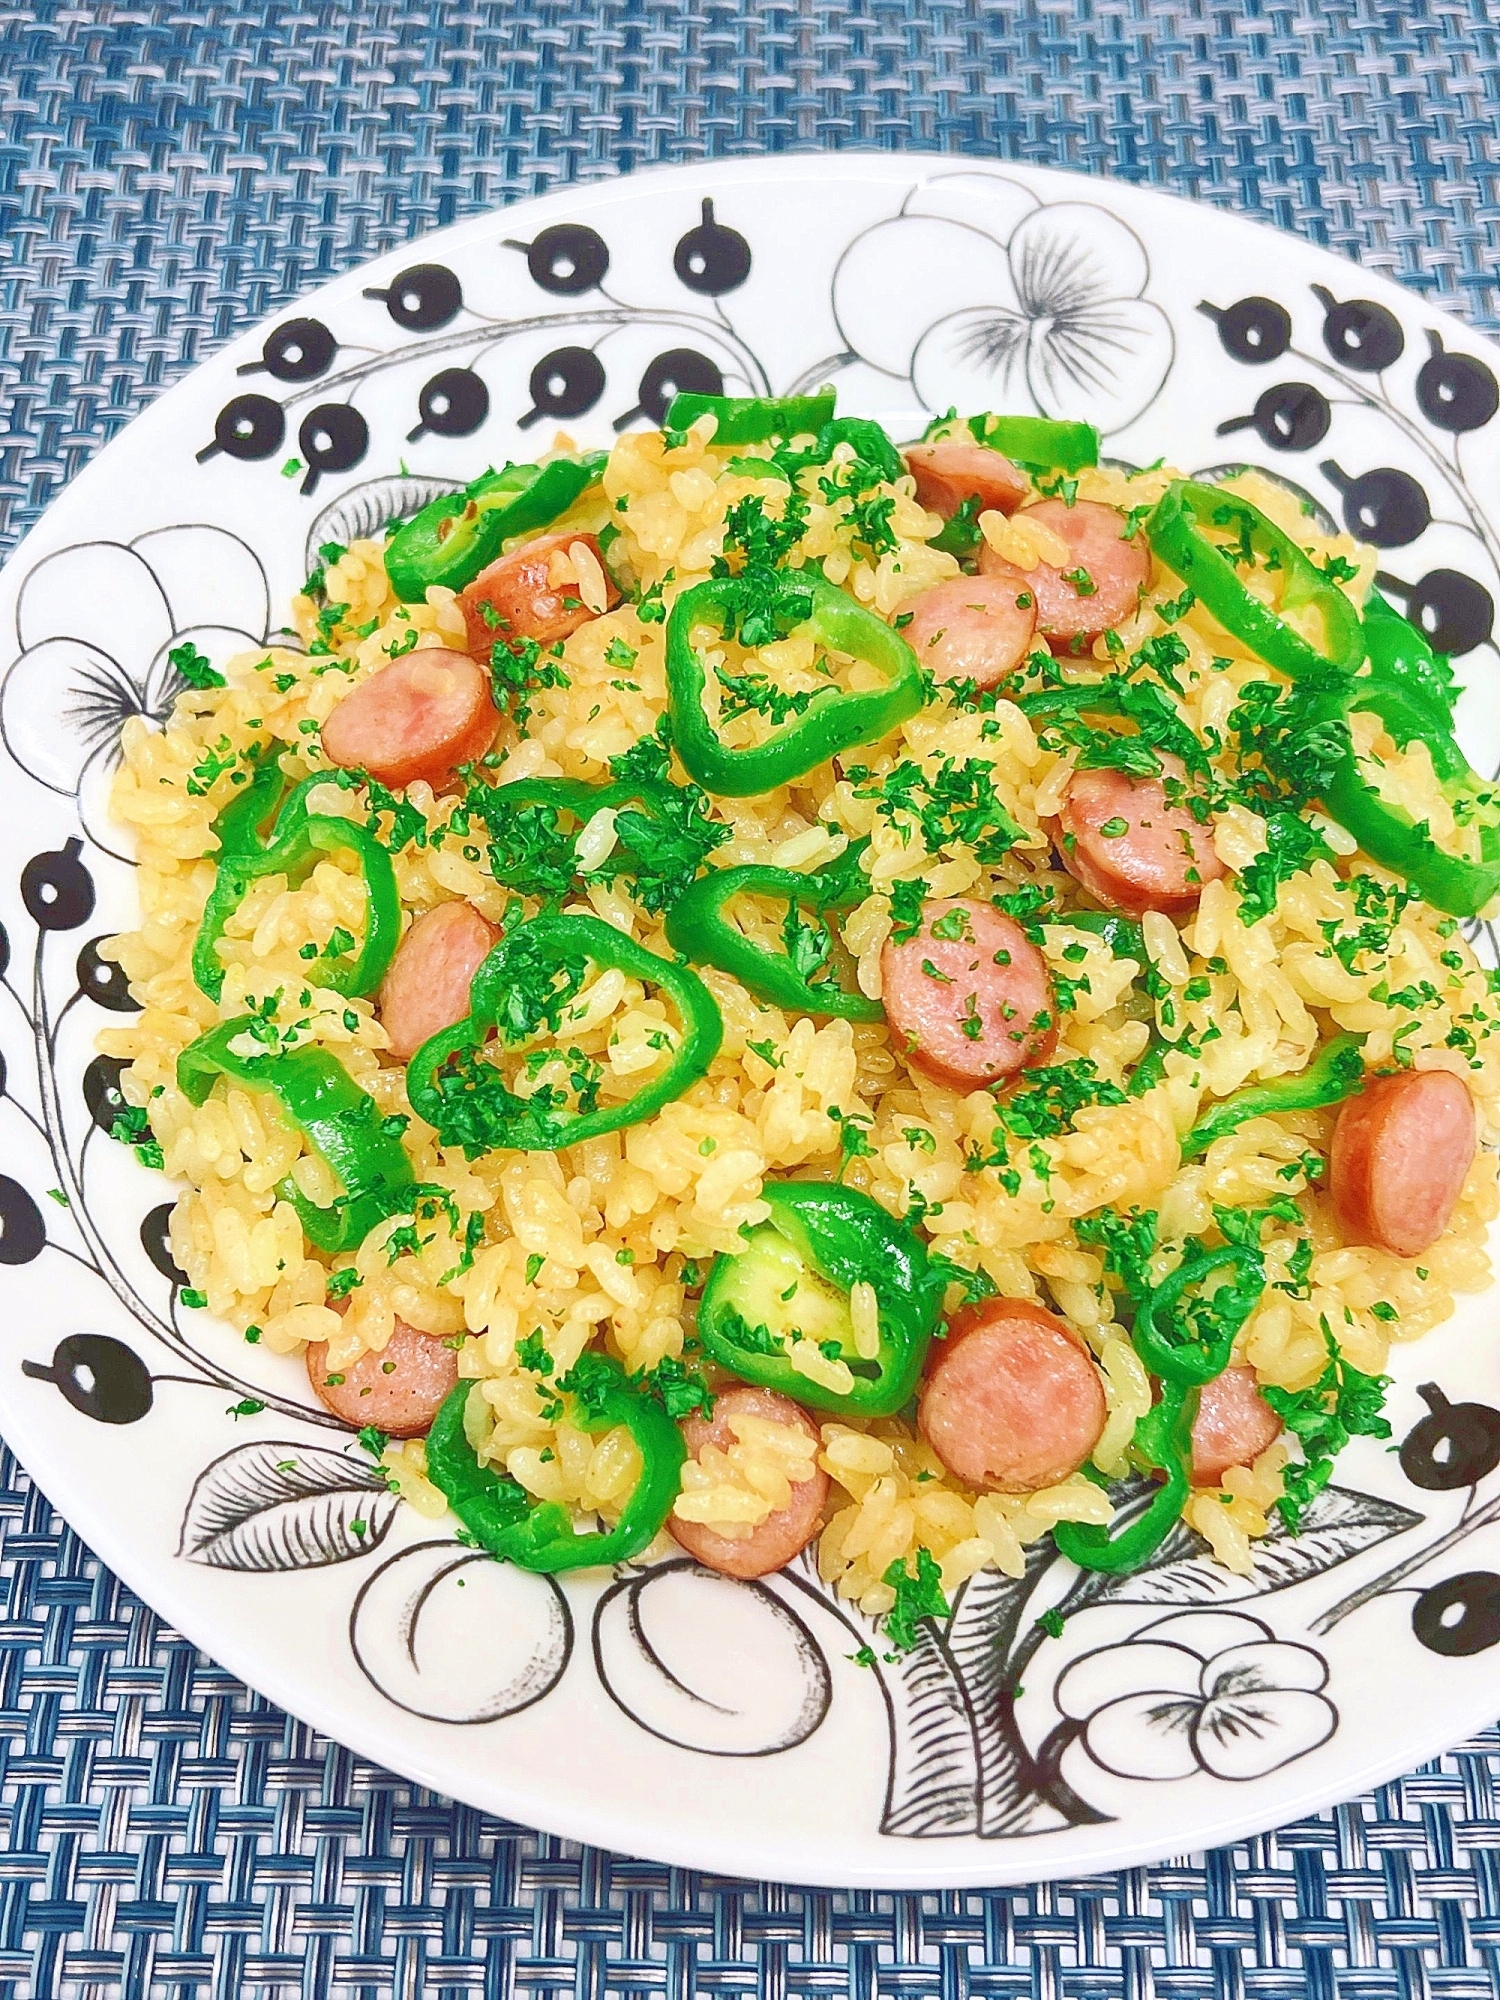
[[[286,804],[276,816],[274,834],[268,846],[258,840],[258,830],[272,810],[274,796],[286,784],[282,772],[262,766],[248,790],[236,798],[214,822],[220,834],[218,872],[208,892],[204,914],[198,922],[198,936],[192,940],[192,978],[200,992],[218,1000],[224,992],[224,966],[218,956],[218,942],[224,926],[244,902],[250,884],[268,874],[284,874],[296,888],[312,874],[320,854],[354,854],[364,878],[364,944],[356,952],[338,952],[322,962],[316,984],[338,994],[368,996],[386,976],[386,966],[400,942],[400,892],[390,854],[382,848],[368,826],[356,820],[340,820],[330,814],[308,812],[306,796],[314,784],[326,784],[326,772],[314,772],[292,788]],[[308,968],[312,980],[312,968]]]

